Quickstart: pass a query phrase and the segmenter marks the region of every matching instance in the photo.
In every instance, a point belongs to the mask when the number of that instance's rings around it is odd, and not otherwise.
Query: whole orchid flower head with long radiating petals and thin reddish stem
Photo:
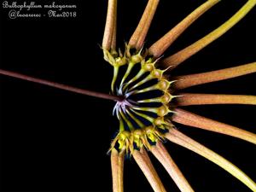
[[[256,135],[252,132],[207,119],[179,108],[180,106],[204,104],[256,105],[256,96],[179,93],[179,90],[191,86],[255,73],[256,62],[207,73],[196,73],[178,77],[169,76],[172,69],[190,56],[195,55],[195,53],[208,44],[211,44],[215,39],[221,37],[232,26],[235,26],[239,20],[253,9],[256,0],[248,0],[223,25],[218,26],[217,29],[194,44],[165,58],[162,58],[162,55],[166,49],[170,47],[186,28],[219,1],[207,0],[206,3],[195,9],[177,26],[174,26],[167,32],[166,35],[146,49],[143,47],[144,41],[159,2],[160,0],[148,0],[137,29],[132,34],[129,42],[125,44],[124,51],[122,51],[116,48],[117,0],[108,0],[108,15],[102,41],[102,50],[105,61],[108,61],[113,67],[111,95],[81,90],[5,70],[0,70],[0,73],[116,102],[113,108],[113,115],[119,120],[119,131],[116,137],[113,138],[108,151],[111,154],[114,192],[124,191],[123,172],[125,156],[132,156],[134,158],[154,191],[166,191],[148,157],[147,151],[154,154],[156,159],[160,161],[181,191],[194,191],[164,147],[163,142],[166,140],[177,143],[211,160],[246,184],[249,189],[256,191],[256,184],[239,168],[201,143],[197,143],[192,138],[187,137],[172,124],[175,122],[194,126],[256,144]]]

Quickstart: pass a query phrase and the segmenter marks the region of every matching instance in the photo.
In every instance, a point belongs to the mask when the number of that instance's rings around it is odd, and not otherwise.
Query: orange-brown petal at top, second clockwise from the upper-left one
[[[160,0],[148,0],[148,4],[144,10],[143,16],[137,25],[135,32],[130,38],[129,45],[131,45],[131,48],[136,48],[137,50],[142,49],[159,1]]]

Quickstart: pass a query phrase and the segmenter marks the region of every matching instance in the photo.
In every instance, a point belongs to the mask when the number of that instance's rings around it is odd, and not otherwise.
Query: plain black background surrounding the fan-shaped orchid
[[[146,47],[203,2],[160,1]],[[58,3],[76,4],[78,16],[10,20],[8,10],[1,8],[1,68],[108,93],[112,67],[103,61],[99,46],[107,1]],[[123,48],[131,37],[146,3],[146,0],[119,1],[119,47]],[[246,1],[234,0],[215,5],[165,55],[211,32],[243,3]],[[207,72],[255,61],[255,34],[253,9],[223,38],[183,62],[173,73]],[[110,160],[106,153],[118,130],[118,121],[112,116],[114,103],[19,79],[1,76],[0,80],[1,191],[111,191]],[[256,95],[255,88],[255,74],[250,74],[186,91]],[[185,109],[255,132],[253,106]],[[183,125],[177,127],[256,179],[253,144]],[[173,143],[166,143],[166,148],[195,191],[249,191],[235,177],[201,156]],[[167,191],[178,191],[157,160],[152,157],[152,161]],[[124,179],[125,191],[152,191],[132,158],[125,160]]]

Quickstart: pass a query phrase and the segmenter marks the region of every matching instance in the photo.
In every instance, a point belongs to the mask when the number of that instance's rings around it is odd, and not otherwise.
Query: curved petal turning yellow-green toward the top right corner
[[[196,41],[194,44],[191,44],[188,47],[178,51],[176,54],[167,57],[164,61],[162,61],[162,64],[165,67],[177,67],[177,65],[189,59],[190,56],[195,55],[195,53],[205,48],[208,44],[211,44],[214,40],[221,37],[225,32],[229,31],[232,26],[235,26],[239,20],[241,20],[251,9],[253,9],[255,4],[256,0],[248,0],[247,3],[245,3],[235,15],[230,17],[229,20],[225,21],[223,25],[218,26],[217,29]]]

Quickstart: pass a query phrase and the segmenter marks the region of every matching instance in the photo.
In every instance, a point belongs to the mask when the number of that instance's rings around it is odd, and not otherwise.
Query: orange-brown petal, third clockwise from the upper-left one
[[[218,3],[219,0],[208,0],[203,3],[199,8],[195,9],[190,15],[183,19],[177,26],[173,27],[162,38],[155,42],[149,49],[149,54],[154,55],[155,58],[160,57],[168,47],[201,15],[203,15],[213,5]]]

